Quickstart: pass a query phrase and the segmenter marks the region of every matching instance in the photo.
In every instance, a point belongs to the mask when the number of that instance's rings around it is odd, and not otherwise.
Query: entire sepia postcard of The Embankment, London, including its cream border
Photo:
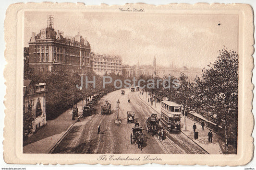
[[[19,5],[9,9],[19,9],[12,153],[21,163],[253,157],[249,5]]]

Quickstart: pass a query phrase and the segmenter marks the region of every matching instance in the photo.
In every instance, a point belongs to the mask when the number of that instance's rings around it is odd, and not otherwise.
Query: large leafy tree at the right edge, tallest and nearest
[[[196,78],[197,102],[207,112],[217,114],[217,123],[225,125],[225,153],[229,139],[237,143],[238,116],[238,54],[226,48],[219,50],[219,57],[204,68],[201,78]]]

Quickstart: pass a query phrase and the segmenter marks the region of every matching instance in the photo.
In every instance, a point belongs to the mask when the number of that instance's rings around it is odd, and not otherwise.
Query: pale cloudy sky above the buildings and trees
[[[122,63],[204,68],[214,62],[223,46],[238,52],[238,15],[150,14],[146,12],[38,12],[24,15],[24,46],[32,32],[47,27],[64,36],[81,34],[92,52],[119,55]]]

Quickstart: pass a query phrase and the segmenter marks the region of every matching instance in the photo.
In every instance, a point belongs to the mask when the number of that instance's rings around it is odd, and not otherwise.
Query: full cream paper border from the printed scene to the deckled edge
[[[239,15],[239,114],[238,114],[238,150],[237,155],[168,155],[156,154],[161,161],[98,161],[101,154],[23,154],[22,152],[22,113],[23,113],[23,17],[24,11],[101,11],[119,12],[119,8],[145,8],[148,13],[199,13],[216,14],[232,13]],[[86,6],[83,3],[18,3],[9,6],[4,22],[6,42],[4,69],[6,79],[5,127],[4,127],[4,160],[15,164],[181,164],[181,165],[219,165],[237,166],[247,164],[253,158],[254,117],[252,110],[253,84],[251,82],[254,53],[253,10],[247,4],[125,4]],[[106,154],[107,156],[110,154]],[[130,157],[141,157],[143,154],[116,154]]]

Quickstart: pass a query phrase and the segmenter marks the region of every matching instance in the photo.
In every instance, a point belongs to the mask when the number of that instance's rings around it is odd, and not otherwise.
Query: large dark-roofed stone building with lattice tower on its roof
[[[53,17],[48,16],[47,28],[39,34],[32,33],[29,41],[29,66],[37,71],[51,71],[53,67],[65,67],[69,73],[85,73],[90,70],[91,47],[79,33],[64,37],[53,28]]]

